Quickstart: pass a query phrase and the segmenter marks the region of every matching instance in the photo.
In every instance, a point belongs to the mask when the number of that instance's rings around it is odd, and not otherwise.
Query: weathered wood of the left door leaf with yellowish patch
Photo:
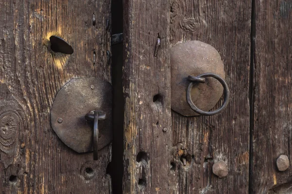
[[[1,193],[111,193],[110,146],[93,161],[50,126],[54,97],[66,82],[111,80],[107,19],[110,0],[0,1]],[[72,44],[73,55],[49,52],[51,35]]]

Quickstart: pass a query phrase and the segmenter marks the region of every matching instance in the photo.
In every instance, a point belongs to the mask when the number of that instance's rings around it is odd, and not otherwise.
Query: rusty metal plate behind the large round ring
[[[188,41],[170,48],[171,109],[183,116],[198,116],[187,104],[188,76],[214,73],[225,79],[224,65],[218,51],[201,41]],[[219,101],[223,87],[215,78],[196,83],[191,90],[194,104],[203,111],[211,110]]]

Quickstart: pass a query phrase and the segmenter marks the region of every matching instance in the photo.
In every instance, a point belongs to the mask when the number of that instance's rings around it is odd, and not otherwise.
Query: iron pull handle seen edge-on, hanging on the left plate
[[[93,121],[93,160],[98,160],[98,121],[105,120],[106,113],[102,111],[91,111],[85,115],[85,119]]]

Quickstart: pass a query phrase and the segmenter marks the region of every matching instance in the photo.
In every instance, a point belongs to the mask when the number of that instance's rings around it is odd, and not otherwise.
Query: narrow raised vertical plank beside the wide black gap
[[[161,45],[154,56],[157,38]],[[168,194],[169,1],[124,0],[125,194]],[[167,132],[163,132],[167,128]]]

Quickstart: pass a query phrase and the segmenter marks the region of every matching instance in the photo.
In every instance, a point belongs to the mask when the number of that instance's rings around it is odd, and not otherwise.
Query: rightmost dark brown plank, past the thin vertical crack
[[[292,145],[292,2],[256,0],[255,34],[255,116],[252,153],[253,194],[280,185],[289,188],[291,167],[278,172],[276,159],[288,155],[291,163]],[[291,192],[291,191],[290,191]],[[290,193],[289,192],[289,193]]]

